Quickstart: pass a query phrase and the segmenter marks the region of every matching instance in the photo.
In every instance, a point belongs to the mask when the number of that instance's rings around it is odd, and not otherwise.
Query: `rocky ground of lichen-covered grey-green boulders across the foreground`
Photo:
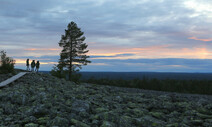
[[[212,96],[74,84],[27,74],[0,89],[0,126],[212,126]]]

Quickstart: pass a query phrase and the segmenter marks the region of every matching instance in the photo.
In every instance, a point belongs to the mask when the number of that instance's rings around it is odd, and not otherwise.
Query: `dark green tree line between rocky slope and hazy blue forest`
[[[143,77],[143,79],[135,78],[133,80],[124,80],[108,78],[95,79],[92,77],[82,82],[147,90],[212,95],[212,80],[160,80],[148,79],[146,77]]]

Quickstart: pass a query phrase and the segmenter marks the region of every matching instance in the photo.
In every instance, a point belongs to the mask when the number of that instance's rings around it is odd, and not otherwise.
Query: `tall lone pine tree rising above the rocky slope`
[[[60,53],[59,65],[69,73],[69,80],[73,79],[73,73],[82,69],[82,65],[87,65],[91,61],[87,60],[89,56],[86,53],[88,45],[84,43],[84,32],[78,28],[75,22],[68,24],[65,35],[61,36],[59,46],[63,48]]]

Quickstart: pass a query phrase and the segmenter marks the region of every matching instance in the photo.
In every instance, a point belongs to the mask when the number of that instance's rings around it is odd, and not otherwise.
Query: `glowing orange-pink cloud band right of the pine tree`
[[[120,51],[120,52],[118,52]],[[212,59],[212,52],[207,48],[171,48],[164,46],[149,46],[144,48],[125,48],[104,53],[92,53],[89,55],[103,56],[92,59],[140,59],[140,58],[188,58],[188,59]],[[121,55],[121,54],[134,55]]]

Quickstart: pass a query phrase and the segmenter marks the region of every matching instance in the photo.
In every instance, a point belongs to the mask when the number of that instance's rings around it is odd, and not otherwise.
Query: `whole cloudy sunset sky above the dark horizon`
[[[0,50],[50,71],[71,21],[92,61],[81,71],[212,72],[210,0],[0,0]]]

